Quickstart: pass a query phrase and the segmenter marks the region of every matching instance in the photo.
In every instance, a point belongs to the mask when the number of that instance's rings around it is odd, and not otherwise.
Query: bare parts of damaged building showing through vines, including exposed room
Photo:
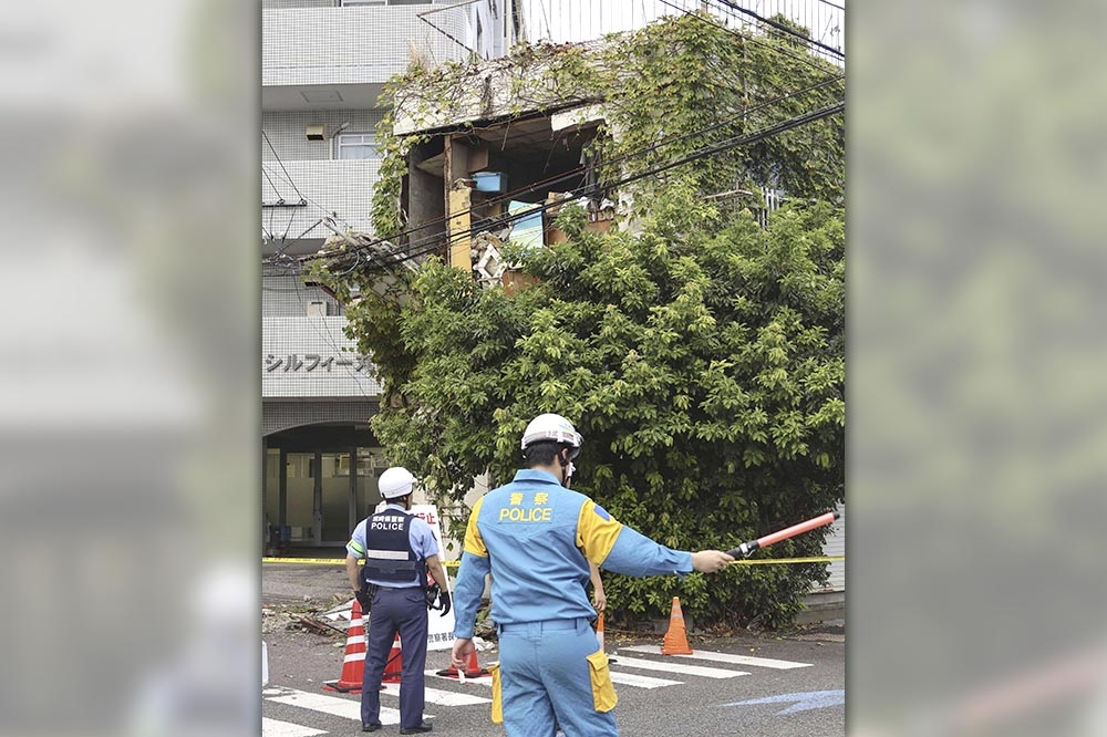
[[[634,231],[633,188],[620,186],[627,172],[599,153],[620,139],[611,113],[627,94],[620,81],[634,73],[604,69],[621,41],[539,45],[521,61],[474,63],[448,81],[432,75],[397,90],[403,232],[387,249],[415,262],[435,253],[482,283],[513,288],[520,277],[504,262],[503,243],[563,239],[555,220],[567,203],[582,206],[590,230],[618,219]],[[742,197],[763,226],[786,200],[770,178],[751,189],[732,184],[708,197]]]

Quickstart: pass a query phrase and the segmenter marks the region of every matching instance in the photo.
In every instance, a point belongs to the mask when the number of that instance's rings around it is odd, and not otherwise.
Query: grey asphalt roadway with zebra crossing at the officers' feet
[[[832,737],[845,735],[845,643],[840,637],[807,634],[819,640],[774,640],[744,636],[724,641],[696,642],[696,654],[708,652],[732,655],[752,655],[789,663],[809,664],[805,667],[775,669],[756,665],[714,663],[689,657],[650,655],[629,647],[658,645],[658,639],[638,643],[620,643],[608,647],[615,662],[611,669],[621,675],[649,683],[669,682],[668,685],[642,687],[617,683],[619,706],[617,720],[620,734],[682,735],[708,737],[718,735],[773,735],[774,737]],[[825,640],[832,637],[834,640]],[[289,640],[269,644],[270,683],[265,694],[262,715],[287,725],[298,725],[327,734],[351,734],[359,730],[356,717],[338,716],[320,712],[335,708],[331,699],[349,702],[349,714],[356,715],[359,694],[335,694],[322,689],[324,681],[332,681],[341,673],[343,650],[333,647],[333,641],[319,635],[306,635],[300,642]],[[482,663],[495,658],[495,652],[483,653]],[[624,665],[633,660],[634,667]],[[427,656],[428,668],[445,667],[445,651]],[[638,662],[649,663],[661,669],[644,669]],[[700,674],[679,673],[668,668],[679,666],[706,667],[748,675],[705,677]],[[706,671],[704,672],[706,673]],[[716,675],[718,675],[716,674]],[[487,698],[490,688],[472,679],[465,684],[444,678],[428,677],[427,687],[448,694]],[[795,696],[806,694],[806,696]],[[321,698],[320,698],[321,697]],[[273,699],[279,699],[279,703]],[[754,703],[749,703],[754,702]],[[762,702],[762,703],[757,703]],[[382,704],[395,708],[394,694],[382,695]],[[302,705],[302,706],[301,706]],[[488,718],[488,704],[442,705],[430,703],[426,714],[433,715],[435,733],[458,737],[503,735],[503,729]],[[292,734],[267,725],[266,737]],[[399,731],[386,727],[382,734]],[[308,733],[301,733],[308,734]],[[320,734],[320,733],[314,733]]]

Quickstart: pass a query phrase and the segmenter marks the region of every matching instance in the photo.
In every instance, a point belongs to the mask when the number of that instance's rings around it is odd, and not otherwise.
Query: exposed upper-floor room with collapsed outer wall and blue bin
[[[529,80],[541,87],[542,73]],[[603,231],[617,216],[618,193],[600,180],[593,144],[610,135],[602,101],[579,92],[551,93],[515,110],[515,74],[490,63],[447,108],[431,111],[408,97],[395,111],[395,135],[417,139],[407,150],[401,208],[407,252],[438,253],[472,270],[486,286],[513,288],[521,278],[503,246],[527,249],[563,239],[554,226],[567,203],[581,205],[588,228]],[[540,93],[538,93],[540,95]]]

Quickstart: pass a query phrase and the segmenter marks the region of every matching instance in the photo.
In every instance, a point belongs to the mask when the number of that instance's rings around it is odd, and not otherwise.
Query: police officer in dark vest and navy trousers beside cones
[[[438,584],[437,608],[449,611],[442,551],[431,526],[408,513],[415,477],[406,468],[389,468],[379,488],[386,506],[358,523],[346,543],[346,577],[354,595],[369,611],[369,644],[361,687],[361,730],[381,728],[381,681],[400,633],[403,673],[400,679],[400,734],[431,731],[423,720],[426,667],[426,575]],[[358,561],[365,559],[359,571]],[[362,584],[368,584],[363,587]]]

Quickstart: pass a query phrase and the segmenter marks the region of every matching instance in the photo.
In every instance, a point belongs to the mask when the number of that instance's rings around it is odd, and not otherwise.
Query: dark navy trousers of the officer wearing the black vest
[[[365,674],[361,683],[361,723],[381,720],[381,678],[392,652],[396,632],[403,651],[400,679],[400,726],[417,727],[423,723],[423,697],[426,667],[426,598],[422,589],[386,589],[373,596],[369,616],[369,644],[365,648]]]

